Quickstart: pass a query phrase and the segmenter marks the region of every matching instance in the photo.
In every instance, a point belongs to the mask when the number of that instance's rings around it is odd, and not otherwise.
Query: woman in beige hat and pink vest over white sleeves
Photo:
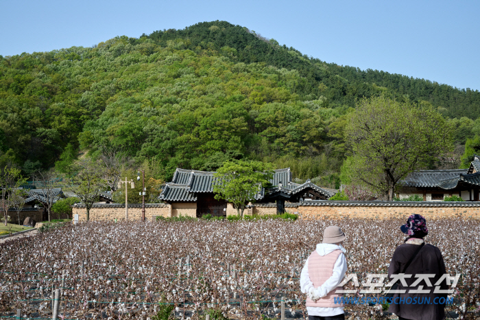
[[[345,319],[344,304],[335,304],[335,290],[347,271],[346,250],[341,246],[346,236],[339,227],[324,230],[322,243],[317,244],[300,274],[300,289],[307,293],[309,320]]]

